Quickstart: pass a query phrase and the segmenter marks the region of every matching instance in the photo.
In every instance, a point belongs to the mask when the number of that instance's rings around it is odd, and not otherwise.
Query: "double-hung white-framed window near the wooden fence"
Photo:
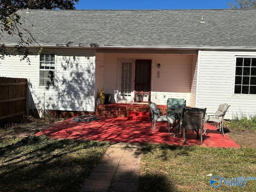
[[[40,54],[39,59],[39,86],[55,86],[55,54]]]

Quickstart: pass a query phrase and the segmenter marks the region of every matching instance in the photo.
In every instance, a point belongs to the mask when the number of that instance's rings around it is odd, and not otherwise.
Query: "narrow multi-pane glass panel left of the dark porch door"
[[[122,73],[121,73],[121,95],[131,96],[132,92],[132,63],[122,62]]]

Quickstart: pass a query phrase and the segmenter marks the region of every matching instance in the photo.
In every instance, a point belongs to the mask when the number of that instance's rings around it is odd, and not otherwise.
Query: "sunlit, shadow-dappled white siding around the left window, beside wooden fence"
[[[45,48],[46,49],[46,48]],[[46,110],[94,111],[95,52],[93,49],[46,49],[56,57],[55,87],[39,85],[39,55],[33,49],[30,65],[11,56],[1,60],[0,76],[29,80],[29,107]]]

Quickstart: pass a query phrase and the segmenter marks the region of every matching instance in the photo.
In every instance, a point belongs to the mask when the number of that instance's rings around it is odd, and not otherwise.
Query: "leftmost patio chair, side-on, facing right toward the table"
[[[161,112],[157,108],[155,103],[149,102],[149,108],[150,108],[150,114],[151,114],[151,118],[152,118],[152,128],[151,128],[150,134],[152,133],[153,130],[156,129],[156,122],[166,121],[166,122],[168,122],[168,132],[170,135],[170,124],[174,123],[175,118],[172,116],[168,116],[168,115],[161,116]]]

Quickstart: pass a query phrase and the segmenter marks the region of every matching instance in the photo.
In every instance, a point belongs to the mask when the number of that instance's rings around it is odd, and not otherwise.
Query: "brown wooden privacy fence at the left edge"
[[[0,77],[0,120],[26,114],[27,79]]]

